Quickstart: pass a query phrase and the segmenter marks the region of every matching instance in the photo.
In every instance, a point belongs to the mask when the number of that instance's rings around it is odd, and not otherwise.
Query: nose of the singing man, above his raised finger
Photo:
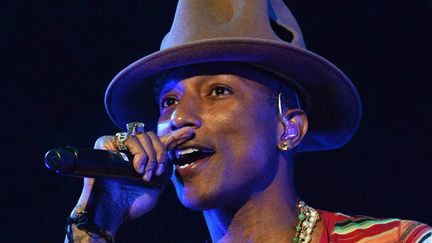
[[[175,107],[170,118],[170,128],[172,131],[182,127],[190,126],[199,128],[202,125],[200,116],[201,108],[194,97],[183,95]]]

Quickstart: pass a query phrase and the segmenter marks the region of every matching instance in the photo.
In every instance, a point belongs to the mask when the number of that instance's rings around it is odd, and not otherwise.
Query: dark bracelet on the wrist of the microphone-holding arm
[[[95,223],[89,221],[86,211],[79,212],[75,216],[66,219],[65,230],[69,242],[73,242],[71,229],[72,224],[75,224],[78,229],[85,231],[89,235],[96,234],[99,237],[104,238],[108,243],[114,243],[114,238],[108,234],[108,232],[101,229]]]

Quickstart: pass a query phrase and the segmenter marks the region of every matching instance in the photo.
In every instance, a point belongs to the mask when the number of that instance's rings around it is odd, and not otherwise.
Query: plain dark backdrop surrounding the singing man
[[[308,48],[353,80],[363,119],[344,148],[300,154],[310,205],[432,224],[432,1],[287,1]],[[117,128],[105,88],[159,48],[176,1],[23,1],[0,4],[2,170],[0,242],[62,242],[81,180],[43,164],[63,145],[92,147]],[[329,114],[331,115],[331,114]],[[202,242],[201,215],[170,186],[157,208],[121,228],[118,242]]]

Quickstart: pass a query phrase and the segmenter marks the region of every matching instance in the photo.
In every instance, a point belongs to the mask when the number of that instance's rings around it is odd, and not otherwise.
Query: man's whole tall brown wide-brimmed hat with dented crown
[[[286,34],[291,40],[281,38]],[[341,147],[358,127],[361,103],[355,87],[335,65],[305,48],[282,0],[179,0],[161,49],[111,81],[106,110],[121,129],[129,122],[156,124],[155,81],[168,70],[211,62],[258,66],[287,77],[281,82],[294,82],[307,93],[309,129],[299,151]]]

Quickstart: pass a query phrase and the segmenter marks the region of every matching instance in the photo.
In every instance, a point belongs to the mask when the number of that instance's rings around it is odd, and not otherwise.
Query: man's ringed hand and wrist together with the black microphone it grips
[[[85,177],[72,216],[89,212],[93,223],[114,235],[124,221],[154,208],[171,176],[168,151],[192,138],[193,129],[183,127],[160,137],[140,129],[102,136],[95,149],[66,147],[47,153],[45,163],[50,169]]]

